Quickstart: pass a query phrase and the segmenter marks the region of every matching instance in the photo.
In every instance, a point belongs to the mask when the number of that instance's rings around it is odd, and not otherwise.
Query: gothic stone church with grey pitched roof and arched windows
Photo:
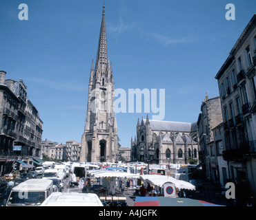
[[[146,120],[137,122],[137,135],[131,140],[131,160],[156,164],[189,164],[198,161],[197,122]]]

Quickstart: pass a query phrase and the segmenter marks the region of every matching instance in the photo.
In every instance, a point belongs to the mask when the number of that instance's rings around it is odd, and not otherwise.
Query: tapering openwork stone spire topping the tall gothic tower
[[[95,69],[105,70],[108,67],[108,47],[105,22],[105,5],[103,5],[101,31],[99,33],[99,45],[97,51],[97,59]]]

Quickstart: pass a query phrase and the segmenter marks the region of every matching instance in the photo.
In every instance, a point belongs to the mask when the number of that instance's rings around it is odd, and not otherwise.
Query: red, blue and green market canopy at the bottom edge
[[[178,197],[136,197],[135,206],[220,206],[207,201]]]

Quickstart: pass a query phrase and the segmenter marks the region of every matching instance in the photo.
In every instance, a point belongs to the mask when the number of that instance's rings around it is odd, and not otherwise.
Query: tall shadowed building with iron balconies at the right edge
[[[230,181],[256,195],[256,14],[215,76],[221,96]],[[244,191],[246,189],[246,191]]]

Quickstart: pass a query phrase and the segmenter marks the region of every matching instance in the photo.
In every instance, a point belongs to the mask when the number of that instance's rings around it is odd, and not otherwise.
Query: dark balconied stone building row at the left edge
[[[12,169],[12,162],[32,161],[41,156],[43,121],[27,98],[23,80],[6,80],[0,71],[0,171]],[[8,164],[8,162],[10,162]]]

